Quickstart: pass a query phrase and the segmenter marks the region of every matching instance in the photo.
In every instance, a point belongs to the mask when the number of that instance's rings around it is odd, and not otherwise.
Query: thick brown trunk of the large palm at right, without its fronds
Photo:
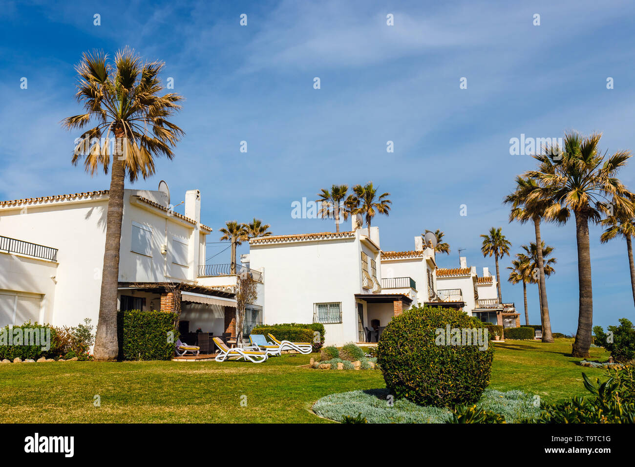
[[[580,309],[578,330],[573,342],[572,356],[588,358],[593,327],[593,289],[591,286],[591,251],[589,250],[589,216],[575,212],[575,236],[578,244],[578,286]]]

